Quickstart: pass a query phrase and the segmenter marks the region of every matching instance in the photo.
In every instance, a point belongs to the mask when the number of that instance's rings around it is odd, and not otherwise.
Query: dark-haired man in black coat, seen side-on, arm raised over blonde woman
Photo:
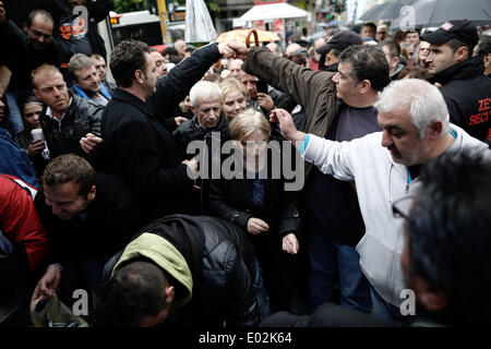
[[[175,129],[175,119],[165,117],[223,55],[231,55],[228,44],[207,45],[157,81],[146,44],[124,40],[111,53],[109,65],[118,88],[103,116],[106,146],[99,165],[130,185],[146,221],[191,213],[194,181],[188,171],[195,171],[197,163],[184,159],[169,133],[168,120]]]

